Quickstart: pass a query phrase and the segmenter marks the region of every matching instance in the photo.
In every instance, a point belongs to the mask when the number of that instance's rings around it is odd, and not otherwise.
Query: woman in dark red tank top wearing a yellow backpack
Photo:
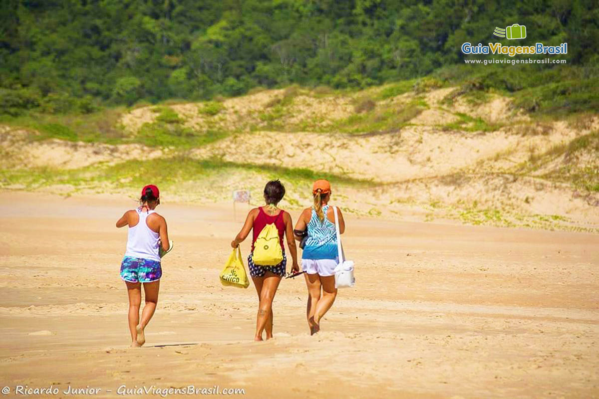
[[[252,234],[252,252],[247,257],[247,264],[250,268],[250,276],[258,293],[259,307],[258,318],[256,319],[256,341],[262,340],[262,331],[266,330],[266,339],[273,337],[273,299],[274,294],[279,288],[281,279],[285,276],[287,258],[285,256],[285,246],[283,246],[283,237],[287,240],[287,246],[293,259],[292,272],[299,272],[297,260],[297,248],[295,248],[295,239],[293,232],[293,221],[291,215],[283,209],[277,208],[277,204],[285,196],[285,187],[279,180],[269,181],[264,187],[264,200],[266,205],[252,209],[247,214],[246,223],[243,224],[241,231],[231,242],[233,248],[237,248],[240,242],[246,239],[250,230]],[[283,260],[276,266],[261,266],[253,263],[254,243],[262,229],[267,224],[274,223],[279,232],[279,242],[283,249]]]

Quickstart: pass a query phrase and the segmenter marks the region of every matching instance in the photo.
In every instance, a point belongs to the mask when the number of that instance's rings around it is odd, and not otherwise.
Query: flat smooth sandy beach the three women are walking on
[[[230,205],[165,201],[158,212],[175,247],[146,346],[129,349],[127,233],[114,223],[134,206],[113,195],[0,193],[8,397],[16,385],[60,389],[37,397],[71,396],[68,386],[119,397],[123,385],[217,385],[250,398],[599,396],[597,234],[348,215],[356,287],[340,291],[310,337],[305,283],[283,280],[275,338],[255,343],[253,285],[218,280],[246,208],[234,221]]]

